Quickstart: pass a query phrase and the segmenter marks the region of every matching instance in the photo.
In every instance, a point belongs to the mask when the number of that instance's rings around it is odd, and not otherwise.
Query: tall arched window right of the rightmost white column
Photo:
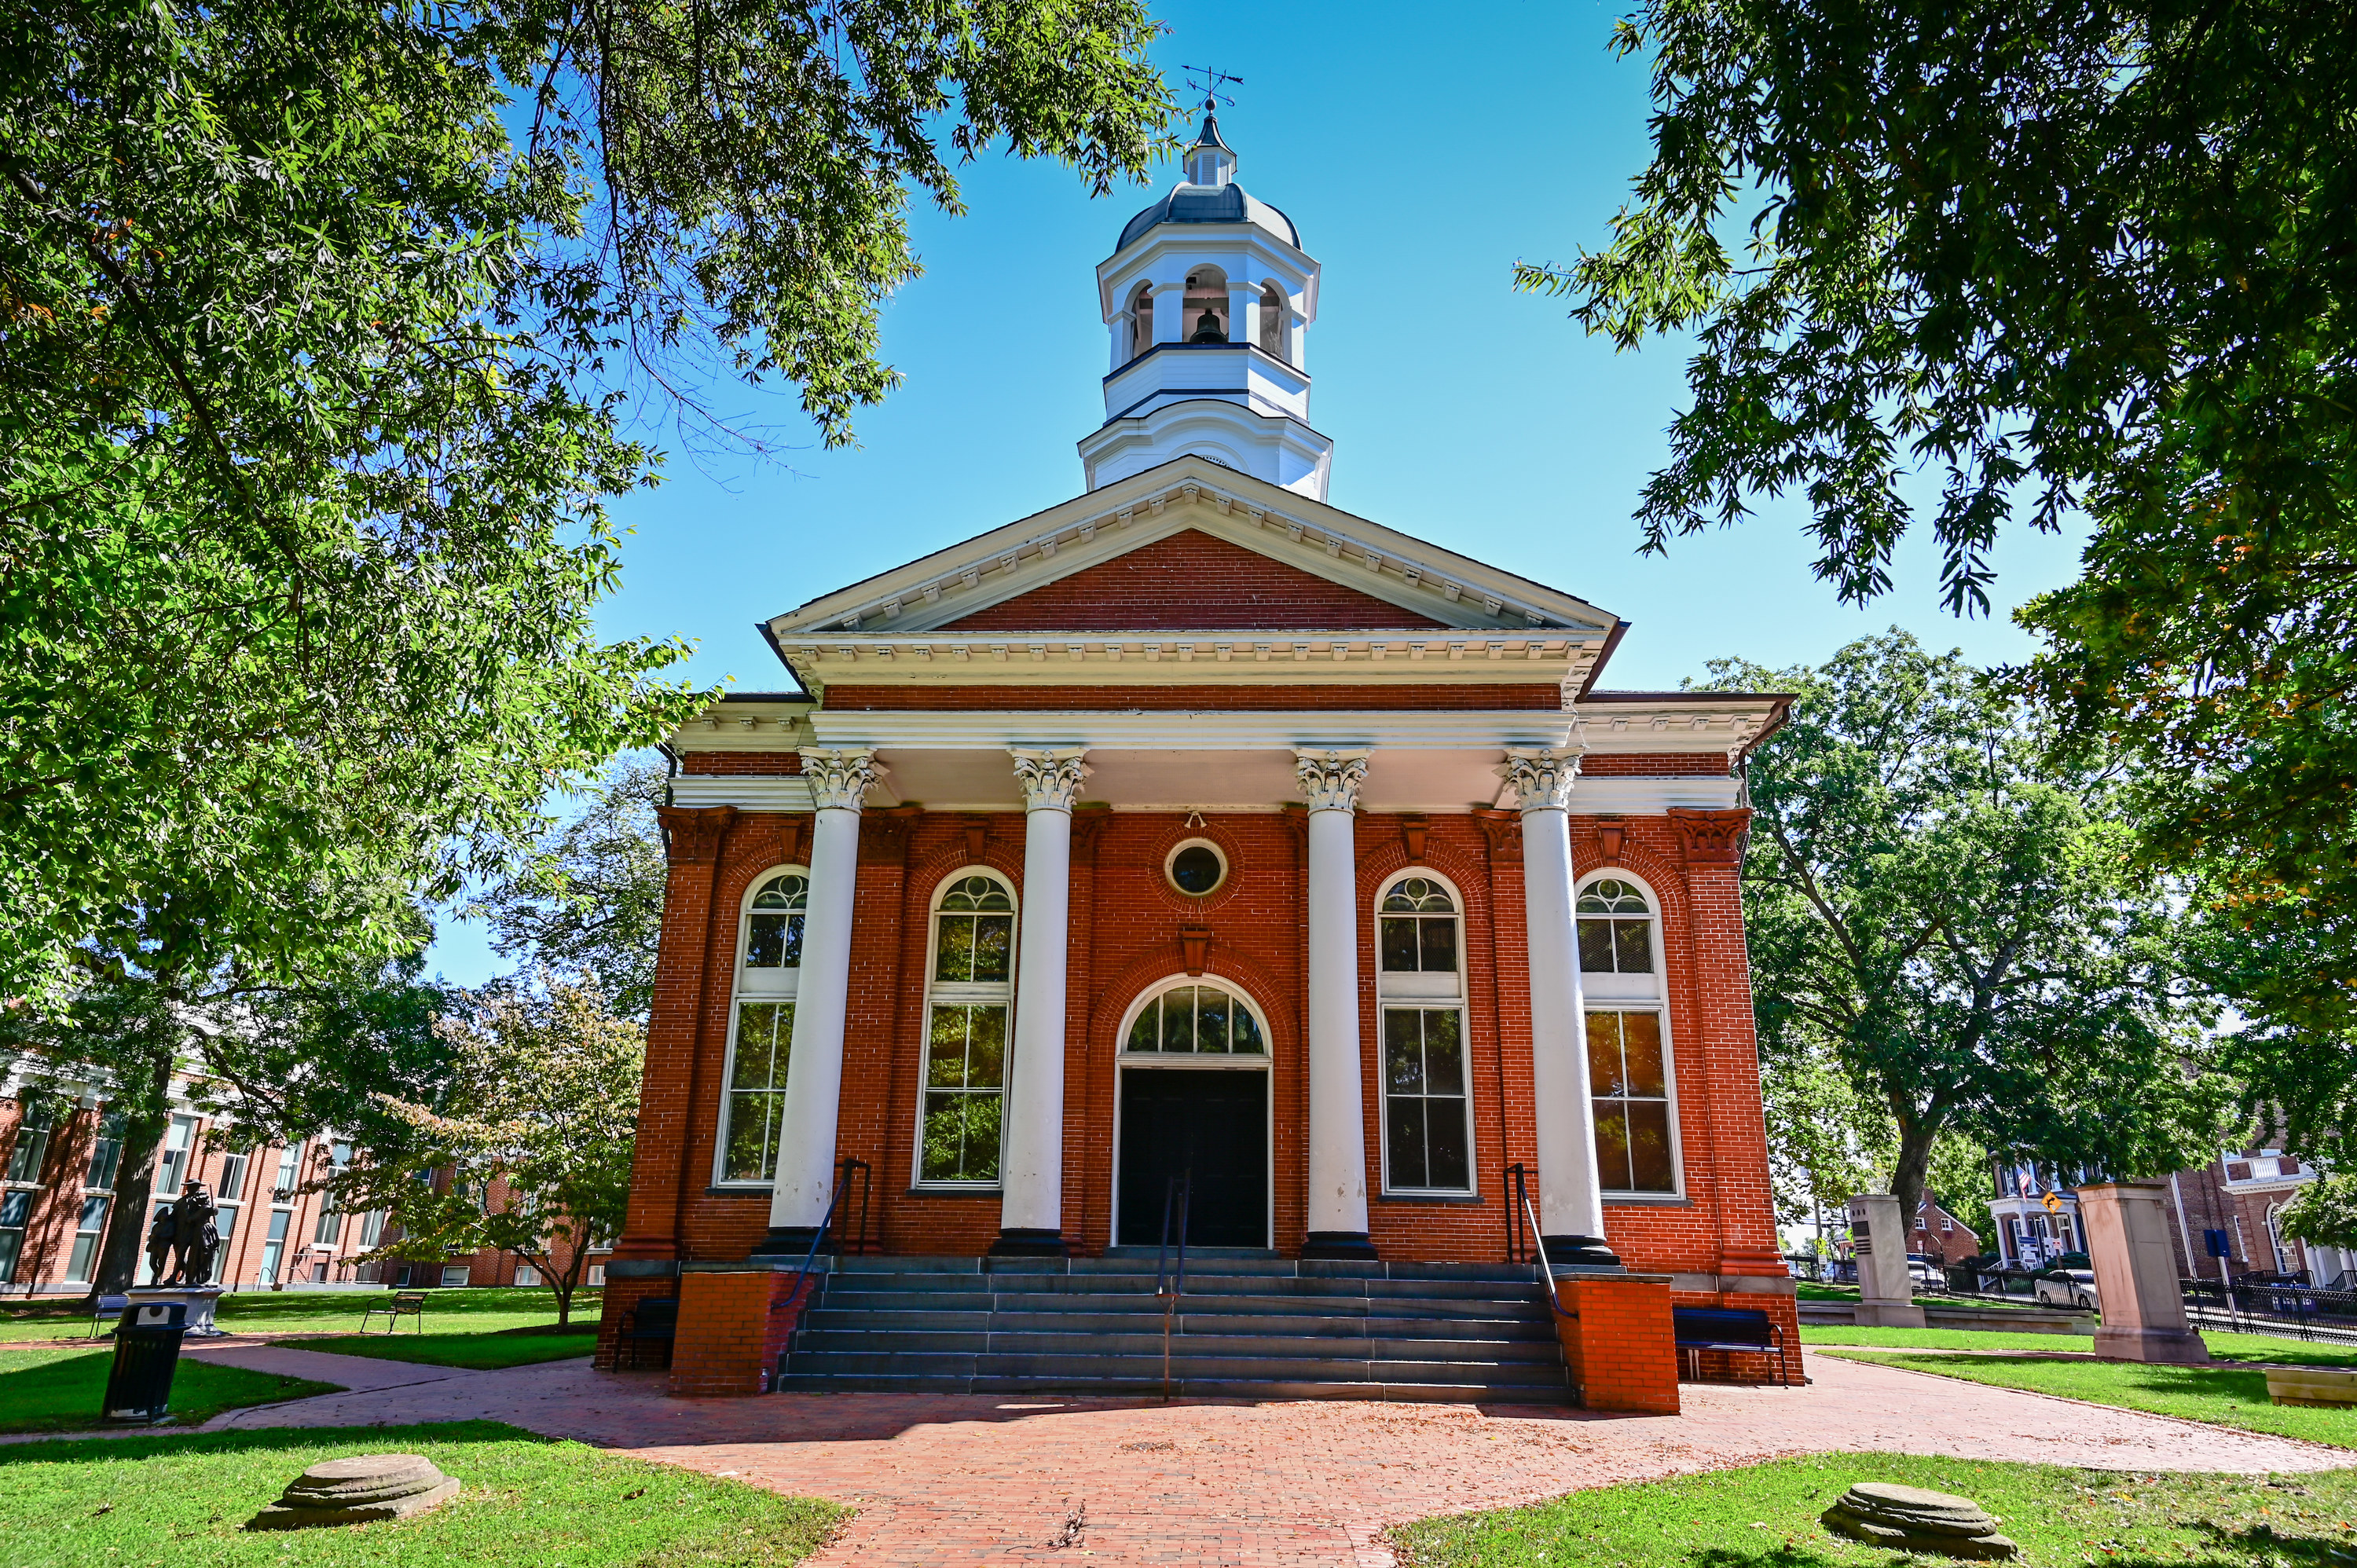
[[[1671,1195],[1676,1073],[1652,898],[1633,879],[1598,877],[1579,889],[1577,917],[1598,1177],[1607,1193]]]

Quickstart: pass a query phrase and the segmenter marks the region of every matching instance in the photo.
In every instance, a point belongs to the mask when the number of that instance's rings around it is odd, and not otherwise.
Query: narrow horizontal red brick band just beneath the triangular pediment
[[[1103,712],[1131,707],[1148,712],[1494,707],[1560,712],[1563,686],[1556,681],[1468,681],[1464,686],[827,686],[827,707],[834,712]],[[1725,773],[1725,759],[1721,759],[1718,771]]]

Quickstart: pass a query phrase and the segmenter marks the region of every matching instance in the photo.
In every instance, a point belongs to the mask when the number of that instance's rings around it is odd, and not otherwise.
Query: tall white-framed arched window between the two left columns
[[[950,877],[933,898],[924,1106],[917,1127],[919,1186],[999,1179],[1014,974],[1014,889],[990,872]]]

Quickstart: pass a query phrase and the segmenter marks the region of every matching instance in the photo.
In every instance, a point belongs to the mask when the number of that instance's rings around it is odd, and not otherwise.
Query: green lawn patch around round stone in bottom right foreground
[[[2265,1481],[2131,1476],[2060,1464],[1916,1455],[1815,1455],[1640,1485],[1572,1493],[1494,1514],[1424,1518],[1391,1533],[1407,1568],[1886,1568],[1937,1563],[1867,1547],[1817,1523],[1857,1481],[1970,1497],[2032,1568],[2329,1568],[2357,1561],[2357,1471]]]

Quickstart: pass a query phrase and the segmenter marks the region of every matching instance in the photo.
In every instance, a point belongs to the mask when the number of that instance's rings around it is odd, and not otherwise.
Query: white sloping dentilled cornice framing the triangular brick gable
[[[1204,457],[1176,457],[813,599],[771,618],[768,630],[780,641],[820,632],[931,632],[1186,528],[1466,632],[1546,627],[1600,639],[1615,627],[1610,613],[1560,589]]]

